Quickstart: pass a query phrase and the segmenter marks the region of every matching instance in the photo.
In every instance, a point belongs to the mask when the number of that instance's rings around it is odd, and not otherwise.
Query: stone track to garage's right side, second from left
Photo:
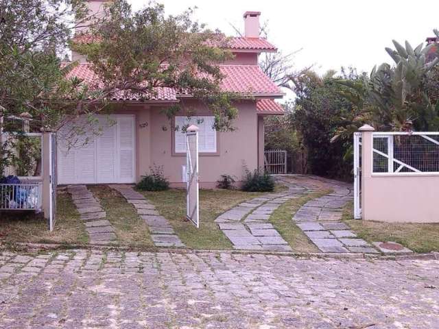
[[[124,184],[110,185],[110,188],[121,193],[126,201],[136,208],[137,214],[147,223],[156,247],[185,247],[169,221],[161,216],[154,205],[141,193],[134,191],[132,186]]]

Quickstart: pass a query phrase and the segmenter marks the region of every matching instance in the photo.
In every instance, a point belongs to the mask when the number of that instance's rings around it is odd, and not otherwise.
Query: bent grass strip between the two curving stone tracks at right
[[[316,197],[321,197],[330,191],[318,191],[298,197],[297,199],[290,199],[285,204],[274,210],[270,216],[270,222],[274,228],[281,234],[283,239],[292,247],[294,252],[319,252],[316,245],[314,245],[308,237],[296,226],[292,217],[297,210],[305,203]]]

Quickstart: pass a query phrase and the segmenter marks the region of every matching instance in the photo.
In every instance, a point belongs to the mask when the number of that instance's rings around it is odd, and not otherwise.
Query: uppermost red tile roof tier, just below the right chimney
[[[90,34],[77,34],[73,37],[73,41],[77,43],[91,43],[97,42],[99,39]],[[277,51],[277,48],[264,38],[246,38],[244,36],[228,39],[228,47],[238,51]]]

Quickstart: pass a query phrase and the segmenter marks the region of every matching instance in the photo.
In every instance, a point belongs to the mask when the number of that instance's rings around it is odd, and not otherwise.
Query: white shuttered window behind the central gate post
[[[176,117],[174,145],[176,153],[186,153],[186,134],[182,132],[189,125],[196,125],[198,130],[198,151],[200,153],[217,152],[217,132],[213,125],[215,117]]]

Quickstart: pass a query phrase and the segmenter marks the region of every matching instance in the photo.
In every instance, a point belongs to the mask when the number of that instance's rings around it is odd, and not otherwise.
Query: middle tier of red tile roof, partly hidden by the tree
[[[75,66],[67,75],[78,77],[87,84],[99,86],[97,75],[91,70],[91,65],[81,63]],[[281,97],[281,90],[259,69],[256,65],[219,65],[221,73],[224,75],[222,80],[222,90],[230,93],[241,93],[250,96],[272,96]],[[175,90],[171,88],[157,88],[157,94],[152,100],[175,101],[178,98]],[[141,100],[141,95],[136,95],[128,91],[121,91],[112,100]]]

